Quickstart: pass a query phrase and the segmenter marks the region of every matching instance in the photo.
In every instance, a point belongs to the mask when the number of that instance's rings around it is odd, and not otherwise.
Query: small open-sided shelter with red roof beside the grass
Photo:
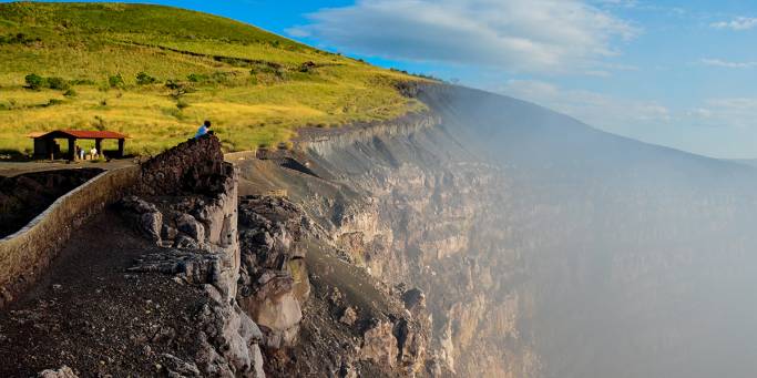
[[[64,139],[69,142],[67,157],[74,160],[76,140],[94,140],[94,147],[102,153],[102,141],[117,140],[119,150],[113,157],[123,157],[123,147],[129,136],[113,131],[83,131],[83,130],[55,130],[49,133],[34,133],[29,137],[34,140],[34,156],[49,157],[60,156],[60,146],[55,143],[57,139]]]

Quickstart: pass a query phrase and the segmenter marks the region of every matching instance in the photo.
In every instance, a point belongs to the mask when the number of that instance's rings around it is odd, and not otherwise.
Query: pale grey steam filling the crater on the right
[[[421,98],[502,168],[507,195],[492,211],[524,267],[503,290],[519,295],[541,375],[754,376],[755,170],[483,92]]]

